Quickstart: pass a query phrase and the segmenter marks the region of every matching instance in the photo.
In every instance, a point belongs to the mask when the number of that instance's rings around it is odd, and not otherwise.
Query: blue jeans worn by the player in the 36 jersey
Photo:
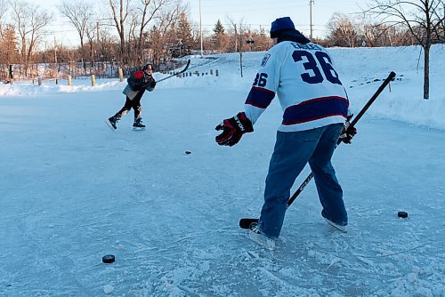
[[[336,224],[347,225],[343,190],[331,164],[342,129],[343,124],[329,124],[300,132],[277,132],[258,222],[258,228],[267,237],[279,237],[290,189],[308,162],[323,207],[321,215]]]

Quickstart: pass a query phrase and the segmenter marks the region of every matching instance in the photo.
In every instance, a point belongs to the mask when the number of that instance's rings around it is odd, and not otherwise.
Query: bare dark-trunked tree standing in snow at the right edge
[[[405,26],[424,49],[424,99],[430,96],[430,48],[440,40],[437,32],[445,18],[443,5],[442,0],[375,0],[367,11],[390,26]]]

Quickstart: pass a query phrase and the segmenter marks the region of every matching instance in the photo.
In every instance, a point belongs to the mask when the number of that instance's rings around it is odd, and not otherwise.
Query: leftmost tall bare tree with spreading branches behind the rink
[[[15,28],[20,36],[20,56],[26,75],[31,56],[36,50],[39,39],[44,34],[44,28],[50,23],[52,15],[36,4],[26,1],[15,0],[10,4]]]

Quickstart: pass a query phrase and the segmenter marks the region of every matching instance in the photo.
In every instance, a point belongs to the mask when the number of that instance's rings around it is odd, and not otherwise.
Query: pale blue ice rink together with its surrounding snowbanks
[[[219,76],[159,83],[143,132],[132,114],[104,124],[124,103],[117,80],[0,83],[0,296],[445,296],[445,51],[430,100],[419,47],[331,52],[355,112],[396,80],[336,150],[349,232],[322,220],[311,183],[275,252],[238,222],[263,204],[278,100],[237,146],[214,142],[263,52],[243,54],[242,78],[238,54],[191,57],[190,72]]]

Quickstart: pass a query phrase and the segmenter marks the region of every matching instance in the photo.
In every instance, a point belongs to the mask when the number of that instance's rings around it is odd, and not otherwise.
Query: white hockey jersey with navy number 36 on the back
[[[247,117],[255,124],[271,100],[283,109],[281,132],[344,123],[349,100],[332,59],[318,44],[283,41],[264,55],[247,96]]]

